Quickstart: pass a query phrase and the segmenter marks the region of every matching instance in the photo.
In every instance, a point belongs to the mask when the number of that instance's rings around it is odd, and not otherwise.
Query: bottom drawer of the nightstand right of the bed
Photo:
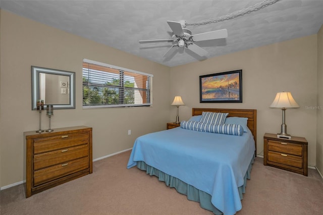
[[[288,165],[291,167],[303,168],[302,157],[291,154],[268,151],[268,161]]]

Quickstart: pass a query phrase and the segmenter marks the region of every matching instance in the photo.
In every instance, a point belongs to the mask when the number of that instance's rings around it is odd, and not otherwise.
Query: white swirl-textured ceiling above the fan
[[[170,67],[201,61],[203,58],[188,49],[178,49],[171,58],[164,59],[171,42],[139,44],[138,40],[171,38],[171,29],[167,24],[169,20],[199,23],[263,2],[0,1],[3,10]],[[206,57],[211,58],[315,34],[322,24],[323,0],[280,0],[234,19],[186,28],[192,34],[228,29],[226,39],[195,42],[207,50]]]

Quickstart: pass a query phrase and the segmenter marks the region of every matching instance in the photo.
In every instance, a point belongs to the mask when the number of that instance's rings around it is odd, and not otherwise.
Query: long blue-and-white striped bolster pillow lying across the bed
[[[182,121],[181,128],[193,131],[230,134],[237,136],[241,136],[243,134],[242,126],[236,124],[207,124],[197,121]]]

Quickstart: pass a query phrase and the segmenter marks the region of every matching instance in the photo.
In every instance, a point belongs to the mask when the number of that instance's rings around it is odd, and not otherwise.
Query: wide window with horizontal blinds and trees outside
[[[150,106],[153,75],[83,60],[83,108]]]

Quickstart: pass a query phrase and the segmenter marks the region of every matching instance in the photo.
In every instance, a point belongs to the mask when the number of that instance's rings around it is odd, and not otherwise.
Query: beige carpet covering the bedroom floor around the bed
[[[1,214],[212,214],[137,168],[130,151],[93,163],[93,174],[25,198],[23,185],[1,191]],[[322,214],[323,180],[263,166],[257,157],[237,214]]]

